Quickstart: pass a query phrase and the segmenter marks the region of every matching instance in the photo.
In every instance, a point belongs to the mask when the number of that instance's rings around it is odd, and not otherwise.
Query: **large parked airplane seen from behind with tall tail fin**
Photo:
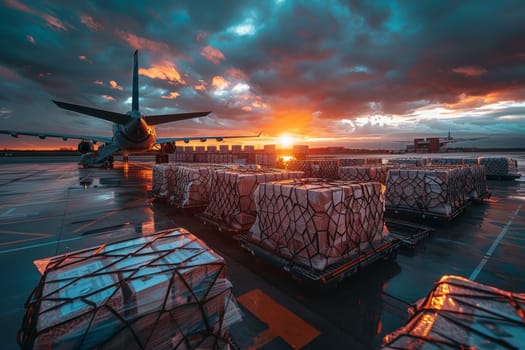
[[[167,153],[175,152],[177,141],[188,143],[192,140],[205,142],[207,139],[215,139],[218,142],[229,138],[250,138],[260,137],[258,135],[247,136],[190,136],[190,137],[157,137],[156,130],[153,126],[175,122],[180,120],[200,118],[207,116],[211,112],[190,112],[164,115],[144,115],[139,110],[139,78],[138,78],[138,50],[133,54],[133,86],[131,111],[126,114],[116,113],[107,110],[80,106],[72,103],[55,101],[53,102],[60,108],[86,114],[95,118],[113,122],[113,136],[85,136],[65,133],[48,133],[38,131],[18,131],[18,130],[0,130],[0,134],[11,135],[18,138],[20,135],[37,136],[40,139],[46,137],[80,140],[78,151],[81,153],[79,164],[84,167],[88,166],[109,166],[113,165],[113,154],[122,152],[123,161],[128,161],[128,155],[131,152],[142,152],[154,150],[160,146],[160,157],[157,160],[166,161]],[[97,142],[102,143],[98,151],[94,152],[94,146]]]

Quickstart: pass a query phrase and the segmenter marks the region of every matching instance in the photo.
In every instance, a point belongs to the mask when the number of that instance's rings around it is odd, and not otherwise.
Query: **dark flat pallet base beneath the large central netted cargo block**
[[[262,258],[278,268],[282,268],[284,271],[290,273],[292,277],[300,281],[313,282],[314,284],[322,286],[337,286],[339,282],[374,261],[380,259],[395,259],[397,249],[401,245],[399,239],[389,237],[375,249],[367,250],[362,254],[355,254],[340,262],[328,265],[323,271],[317,271],[311,267],[306,267],[305,265],[295,263],[273,254],[259,246],[257,243],[249,241],[247,235],[240,235],[240,237],[237,238],[239,239],[241,247],[247,250],[250,254]]]

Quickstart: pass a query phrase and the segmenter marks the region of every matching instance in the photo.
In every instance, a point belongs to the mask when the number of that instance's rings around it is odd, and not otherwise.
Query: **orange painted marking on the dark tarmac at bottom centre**
[[[253,348],[257,349],[277,337],[281,337],[291,347],[302,348],[321,333],[285,307],[279,305],[260,289],[254,289],[237,300],[257,318],[268,325],[254,338]]]

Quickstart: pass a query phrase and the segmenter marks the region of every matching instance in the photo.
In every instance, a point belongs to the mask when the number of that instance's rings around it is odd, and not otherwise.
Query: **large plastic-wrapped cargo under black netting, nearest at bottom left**
[[[241,319],[224,260],[184,229],[35,264],[22,349],[221,349]]]

